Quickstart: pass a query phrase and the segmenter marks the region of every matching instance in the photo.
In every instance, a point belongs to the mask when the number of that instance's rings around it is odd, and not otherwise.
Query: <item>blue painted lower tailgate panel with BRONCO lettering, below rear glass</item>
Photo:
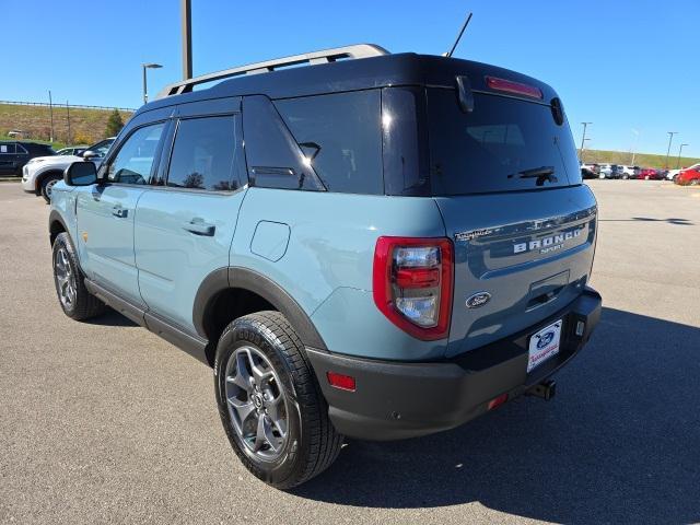
[[[537,324],[587,282],[596,230],[587,187],[435,200],[455,241],[448,355]],[[468,307],[480,292],[488,302]]]

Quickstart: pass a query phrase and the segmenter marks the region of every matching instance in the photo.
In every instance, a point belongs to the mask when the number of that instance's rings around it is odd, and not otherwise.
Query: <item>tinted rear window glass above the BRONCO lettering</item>
[[[551,108],[475,93],[463,113],[452,90],[428,90],[434,195],[546,189],[581,183],[573,138]]]

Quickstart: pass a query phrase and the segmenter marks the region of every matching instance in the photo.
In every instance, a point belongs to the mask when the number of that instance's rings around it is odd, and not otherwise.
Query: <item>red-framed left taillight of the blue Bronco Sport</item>
[[[447,337],[454,248],[448,238],[380,237],[374,249],[374,302],[404,331]]]

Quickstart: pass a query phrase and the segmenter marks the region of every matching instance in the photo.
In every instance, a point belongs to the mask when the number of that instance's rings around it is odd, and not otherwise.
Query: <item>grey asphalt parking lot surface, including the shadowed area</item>
[[[61,313],[48,207],[0,184],[0,523],[699,522],[700,191],[591,187],[605,310],[556,399],[350,442],[284,493],[230,450],[209,369],[115,313]]]

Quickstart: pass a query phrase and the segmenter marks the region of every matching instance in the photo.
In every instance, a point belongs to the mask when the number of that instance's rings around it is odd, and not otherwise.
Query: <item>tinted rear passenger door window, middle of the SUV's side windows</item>
[[[167,186],[228,191],[238,187],[233,115],[188,118],[177,126]]]

